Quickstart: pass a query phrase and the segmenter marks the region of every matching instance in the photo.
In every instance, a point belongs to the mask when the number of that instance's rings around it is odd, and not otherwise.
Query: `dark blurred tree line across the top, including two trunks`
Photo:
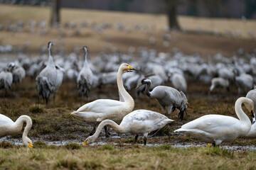
[[[52,6],[52,26],[60,23],[60,7],[166,13],[170,28],[176,29],[180,28],[177,15],[256,18],[256,0],[0,0],[0,3]]]

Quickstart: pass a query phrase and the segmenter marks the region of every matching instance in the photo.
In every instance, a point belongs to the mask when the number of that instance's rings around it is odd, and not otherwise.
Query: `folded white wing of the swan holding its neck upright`
[[[121,107],[123,102],[114,101],[110,99],[98,99],[90,103],[85,104],[78,108],[75,112],[94,112],[94,113],[109,113],[117,108]]]

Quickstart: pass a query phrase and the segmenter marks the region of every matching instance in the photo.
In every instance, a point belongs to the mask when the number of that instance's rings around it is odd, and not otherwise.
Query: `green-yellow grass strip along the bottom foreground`
[[[72,145],[72,144],[70,144]],[[67,145],[66,145],[67,146]],[[117,146],[0,149],[5,169],[255,169],[256,152],[218,147]],[[74,145],[73,145],[74,146]],[[111,149],[110,149],[111,148]],[[17,157],[18,156],[18,157]]]

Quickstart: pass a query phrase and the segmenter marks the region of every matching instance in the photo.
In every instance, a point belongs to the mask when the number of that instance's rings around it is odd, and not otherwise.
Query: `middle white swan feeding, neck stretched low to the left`
[[[85,142],[82,145],[90,144],[95,142],[97,137],[100,135],[100,131],[106,125],[110,125],[114,131],[118,133],[132,133],[135,134],[135,141],[137,141],[138,135],[144,136],[144,145],[146,145],[146,138],[149,135],[149,132],[154,130],[158,130],[163,128],[168,123],[174,122],[167,118],[165,115],[161,113],[157,113],[154,111],[147,111],[147,110],[137,110],[129,113],[128,115],[124,116],[120,125],[117,125],[112,120],[103,120],[100,125],[98,126],[94,135],[87,137]]]

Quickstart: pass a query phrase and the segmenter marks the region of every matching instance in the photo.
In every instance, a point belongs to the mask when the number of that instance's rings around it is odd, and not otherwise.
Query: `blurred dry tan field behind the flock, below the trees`
[[[169,52],[173,47],[178,47],[186,55],[193,55],[200,52],[203,57],[215,55],[222,52],[224,56],[231,57],[235,50],[243,48],[245,52],[252,52],[255,49],[255,38],[248,37],[247,32],[255,33],[256,22],[248,20],[243,23],[239,19],[217,19],[217,18],[192,18],[179,16],[181,27],[185,30],[192,30],[195,33],[171,32],[169,46],[165,46],[163,36],[166,28],[166,16],[150,15],[141,13],[122,13],[93,10],[74,10],[63,8],[61,10],[62,24],[73,22],[75,28],[54,28],[42,29],[46,34],[41,35],[40,29],[31,33],[28,30],[28,21],[49,21],[50,9],[28,6],[4,6],[1,5],[0,24],[6,25],[11,21],[14,25],[18,20],[26,23],[21,33],[0,31],[2,44],[16,46],[30,42],[28,51],[37,53],[41,45],[46,45],[49,40],[62,44],[65,52],[73,50],[74,46],[90,47],[91,54],[102,51],[110,51],[113,47],[122,52],[127,52],[129,47],[149,47],[159,52]],[[81,28],[80,24],[86,22],[87,27]],[[102,23],[110,23],[110,28],[99,30]],[[122,23],[124,30],[117,30],[117,24]],[[140,24],[140,25],[139,25]],[[135,29],[135,26],[142,28]],[[204,35],[201,30],[208,30],[211,33],[223,33],[223,36]],[[241,30],[241,35],[229,35]],[[152,45],[149,38],[156,42]]]

